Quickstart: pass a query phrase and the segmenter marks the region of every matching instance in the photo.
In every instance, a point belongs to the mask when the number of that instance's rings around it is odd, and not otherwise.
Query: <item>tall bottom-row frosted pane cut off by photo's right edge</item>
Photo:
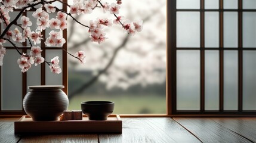
[[[256,110],[256,51],[243,51],[243,110]]]

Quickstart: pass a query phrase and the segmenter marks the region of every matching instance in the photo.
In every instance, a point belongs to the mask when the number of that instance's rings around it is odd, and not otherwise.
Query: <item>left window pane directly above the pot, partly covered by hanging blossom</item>
[[[61,49],[47,49],[45,50],[45,60],[51,61],[52,58],[58,56],[58,60],[60,60],[60,68],[62,69],[62,50]],[[62,72],[60,74],[56,74],[51,72],[48,64],[45,64],[45,85],[63,85],[62,83]]]

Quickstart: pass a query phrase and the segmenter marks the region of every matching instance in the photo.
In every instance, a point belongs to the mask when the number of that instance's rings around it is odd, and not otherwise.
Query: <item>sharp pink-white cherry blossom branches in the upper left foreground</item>
[[[41,43],[43,39],[42,30],[51,29],[49,36],[44,39],[45,45],[47,46],[63,46],[66,43],[66,39],[62,37],[62,30],[67,28],[67,16],[73,18],[77,23],[81,24],[88,29],[90,33],[90,39],[92,42],[101,43],[107,39],[107,34],[104,32],[105,27],[110,27],[113,24],[119,24],[122,29],[125,30],[129,35],[134,35],[136,32],[140,32],[142,29],[142,21],[130,22],[125,19],[124,16],[119,15],[121,0],[113,0],[112,4],[107,2],[97,1],[97,0],[73,0],[73,5],[67,5],[70,7],[70,11],[66,12],[57,8],[53,3],[61,2],[60,0],[0,0],[0,22],[4,24],[4,30],[2,30],[0,35],[0,66],[4,63],[4,55],[8,54],[8,51],[4,48],[2,43],[10,42],[11,45],[16,48],[20,58],[17,60],[17,64],[22,72],[29,70],[33,64],[37,66],[41,63],[47,63],[50,70],[53,73],[61,73],[61,68],[59,66],[60,60],[58,56],[52,58],[50,61],[42,57],[42,49],[36,44]],[[39,7],[36,9],[36,7]],[[73,17],[75,14],[90,14],[95,8],[102,8],[103,13],[110,13],[115,15],[114,20],[109,18],[97,18],[95,20],[90,20],[90,23],[84,24],[80,23],[76,18]],[[14,9],[20,10],[16,15],[14,20],[10,21],[10,13],[13,13]],[[21,16],[24,12],[30,9],[35,9],[36,11],[32,14],[33,18],[36,18],[36,23],[32,23],[29,17]],[[49,13],[57,13],[56,17],[51,18]],[[18,19],[20,18],[20,21]],[[32,24],[36,24],[37,29],[30,29]],[[10,30],[11,27],[15,27],[14,30]],[[18,30],[20,27],[22,30]],[[31,51],[29,54],[20,52],[20,46],[17,43],[23,43],[29,41]],[[63,49],[66,51],[65,49]],[[67,54],[78,59],[81,63],[85,63],[85,52],[78,51],[72,54],[66,51]]]

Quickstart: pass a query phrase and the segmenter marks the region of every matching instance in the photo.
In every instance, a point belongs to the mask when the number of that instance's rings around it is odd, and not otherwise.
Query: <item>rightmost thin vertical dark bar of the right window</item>
[[[243,13],[242,0],[238,1],[238,111],[243,110]]]

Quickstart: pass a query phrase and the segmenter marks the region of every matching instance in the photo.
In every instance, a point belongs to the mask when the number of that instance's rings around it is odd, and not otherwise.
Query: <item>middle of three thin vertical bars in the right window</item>
[[[220,0],[220,10],[223,10],[223,0]],[[224,76],[223,76],[223,11],[220,12],[220,103],[219,110],[223,111],[224,108]]]

